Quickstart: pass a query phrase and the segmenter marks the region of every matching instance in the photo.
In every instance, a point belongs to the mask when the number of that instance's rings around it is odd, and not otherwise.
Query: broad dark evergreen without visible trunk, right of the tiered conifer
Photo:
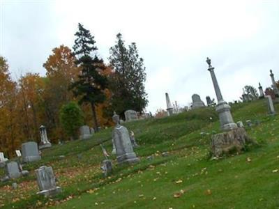
[[[110,48],[109,60],[114,70],[110,77],[112,108],[121,116],[127,109],[142,113],[148,104],[144,88],[146,73],[135,42],[126,48],[121,33],[117,34],[116,45]]]

